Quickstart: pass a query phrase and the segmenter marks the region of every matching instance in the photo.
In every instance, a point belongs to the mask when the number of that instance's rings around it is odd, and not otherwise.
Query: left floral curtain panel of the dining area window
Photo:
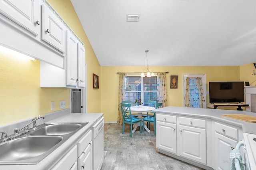
[[[118,117],[117,124],[123,124],[123,117],[120,103],[125,100],[125,76],[126,73],[119,73],[119,88],[118,88]]]

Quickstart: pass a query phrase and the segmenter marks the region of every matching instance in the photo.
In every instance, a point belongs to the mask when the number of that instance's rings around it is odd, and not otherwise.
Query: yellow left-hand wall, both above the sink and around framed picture
[[[100,77],[100,64],[78,20],[70,0],[49,0],[77,36],[85,43],[87,63],[88,113],[100,113],[100,91],[92,88],[92,74]],[[101,81],[100,85],[101,87]],[[65,100],[70,107],[70,90],[40,88],[40,61],[10,56],[0,51],[0,125],[52,112],[50,102]],[[96,102],[95,102],[96,101]],[[64,108],[64,109],[65,109]]]

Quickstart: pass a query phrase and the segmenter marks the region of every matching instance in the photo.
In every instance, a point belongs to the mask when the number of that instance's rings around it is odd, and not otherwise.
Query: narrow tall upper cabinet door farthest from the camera
[[[85,49],[78,43],[78,87],[85,87]]]

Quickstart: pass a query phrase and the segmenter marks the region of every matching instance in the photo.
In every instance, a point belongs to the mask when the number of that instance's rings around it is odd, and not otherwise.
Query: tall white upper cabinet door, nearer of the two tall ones
[[[71,32],[67,31],[66,85],[77,86],[77,54],[78,40]]]

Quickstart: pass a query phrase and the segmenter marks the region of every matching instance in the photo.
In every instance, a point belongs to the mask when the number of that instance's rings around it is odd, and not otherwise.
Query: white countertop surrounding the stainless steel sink
[[[53,119],[51,121],[48,121],[47,123],[86,123],[88,124],[78,130],[75,134],[73,134],[66,142],[64,142],[62,145],[60,145],[56,150],[54,150],[52,153],[50,153],[46,158],[41,160],[38,164],[35,165],[0,165],[0,170],[48,170],[52,168],[53,164],[56,164],[64,154],[68,151],[68,149],[71,148],[71,146],[74,145],[76,140],[81,138],[84,133],[90,130],[92,125],[96,123],[101,117],[103,116],[103,113],[73,113],[64,115],[62,117],[59,117],[57,119]]]

